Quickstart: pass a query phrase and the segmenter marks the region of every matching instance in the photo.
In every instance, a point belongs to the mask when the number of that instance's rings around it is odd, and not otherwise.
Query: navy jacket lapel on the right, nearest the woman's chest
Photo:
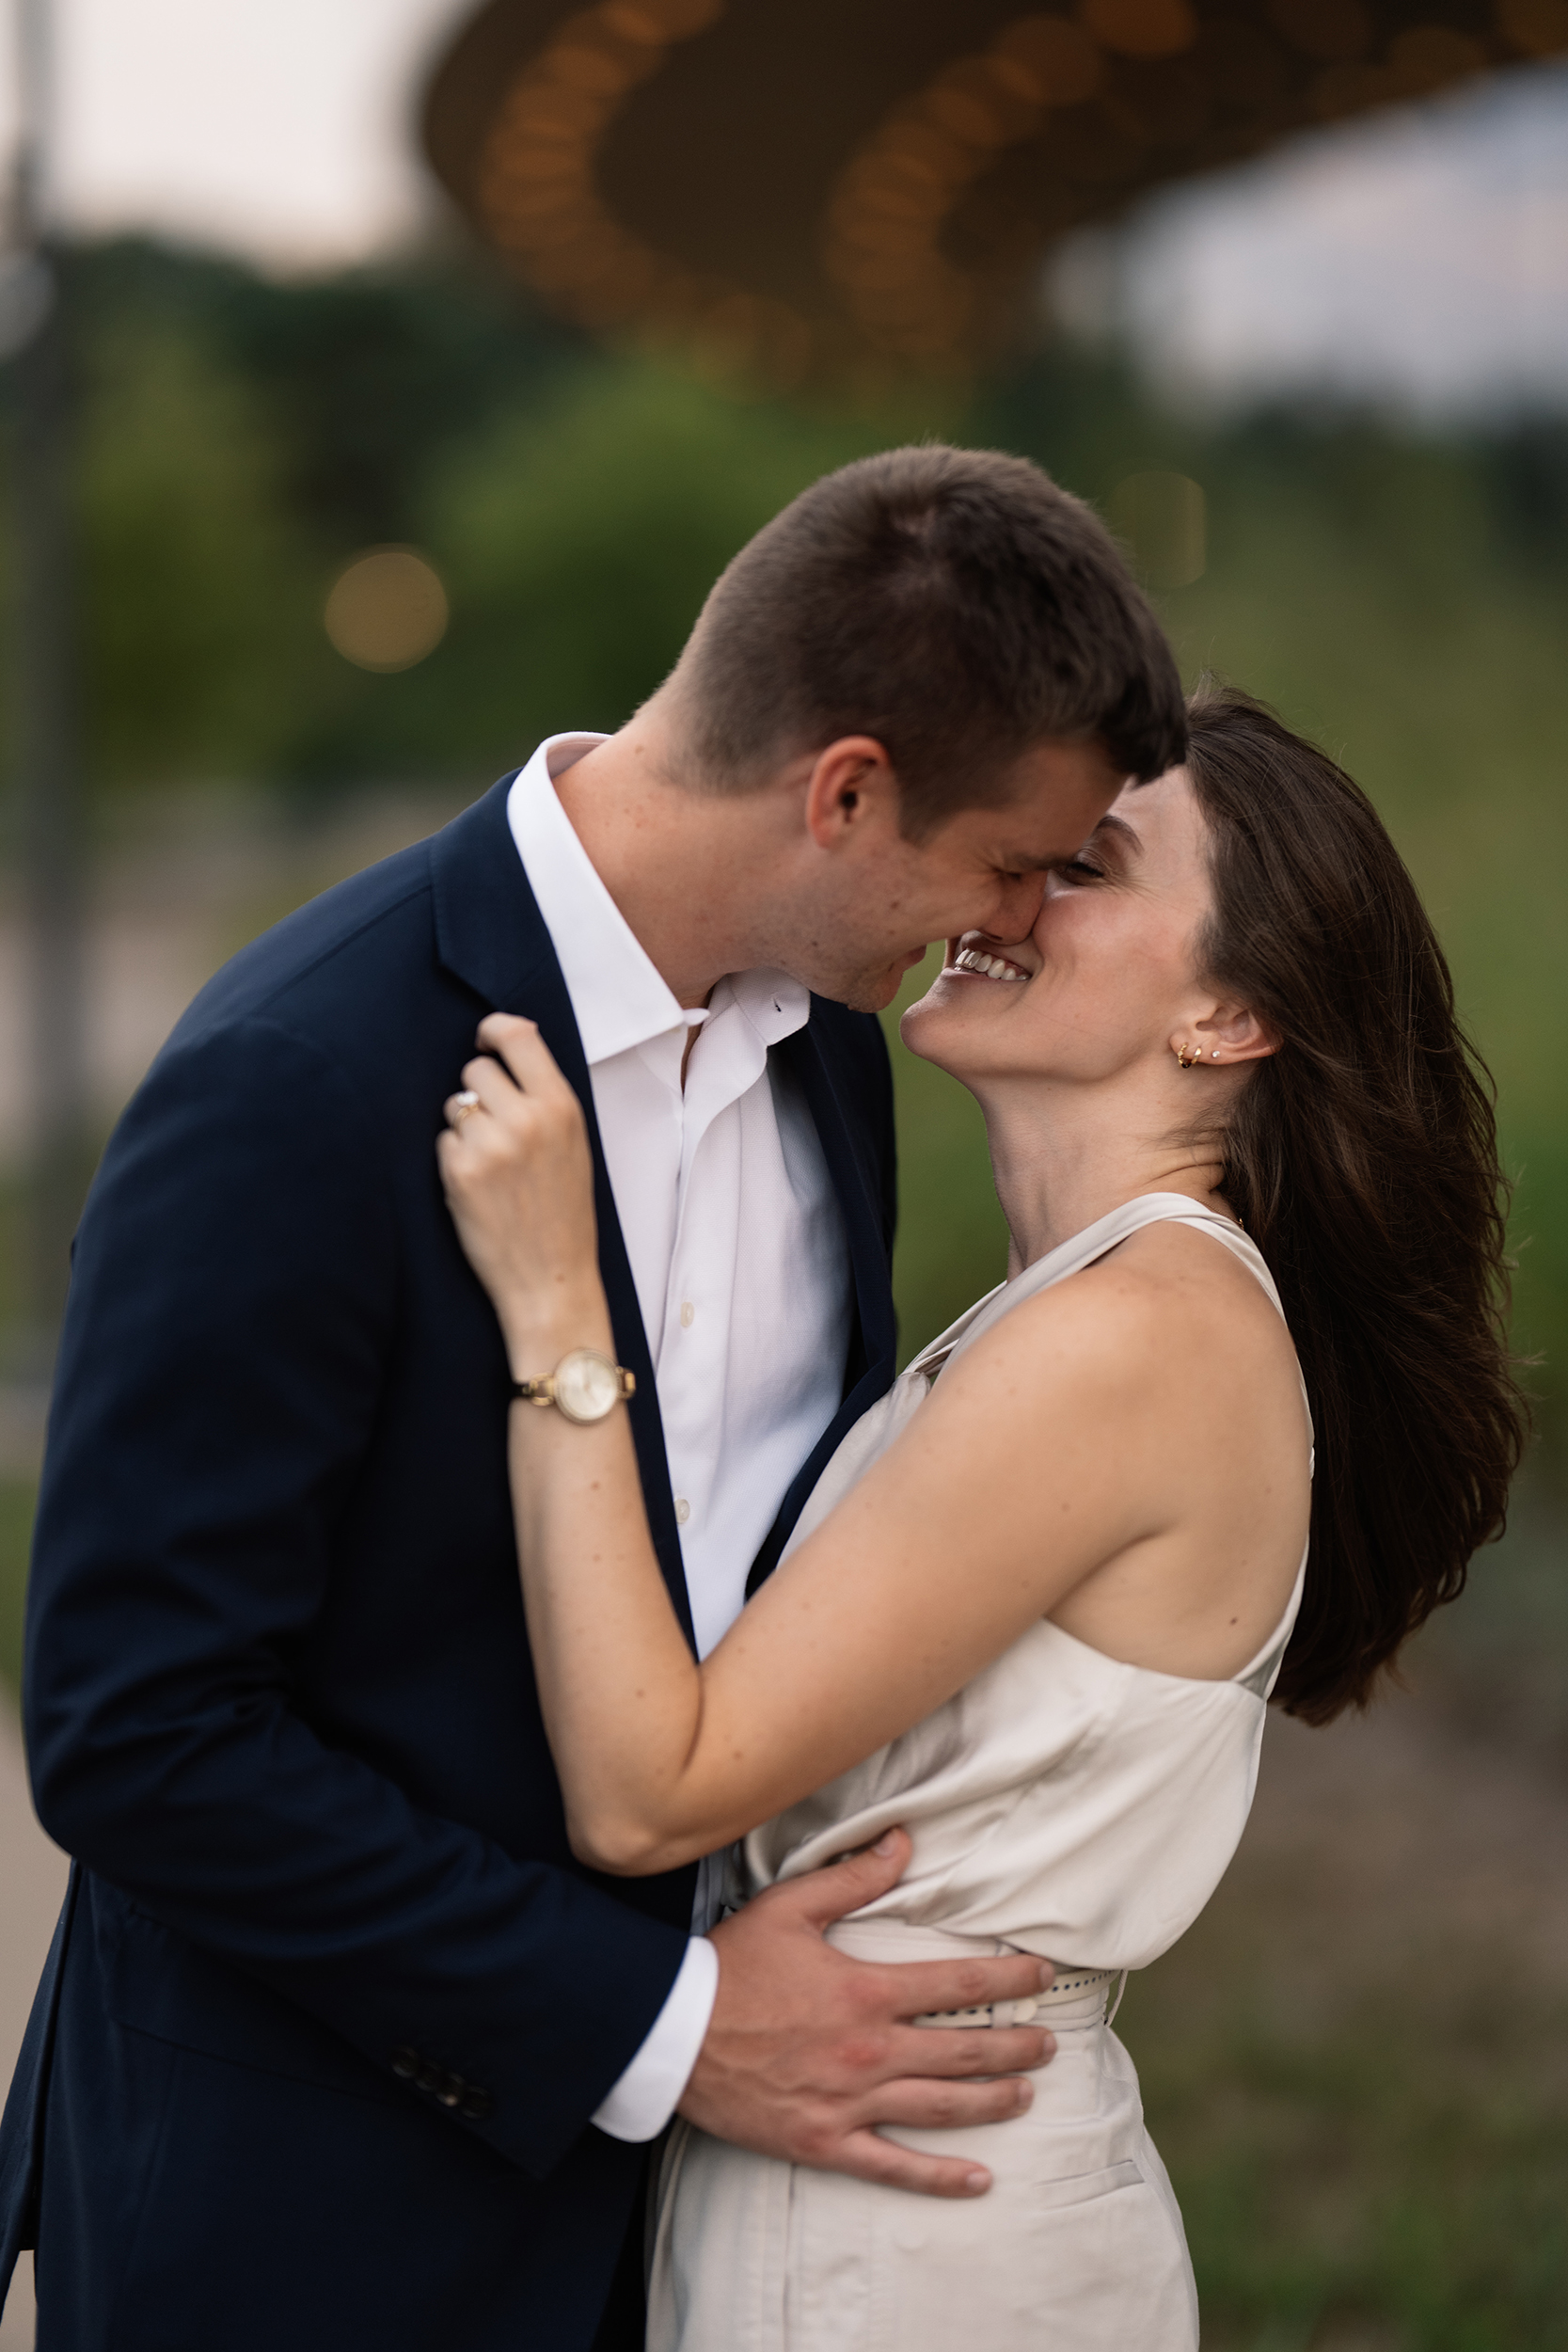
[[[778,1555],[790,1541],[802,1505],[844,1435],[889,1390],[898,1367],[898,1317],[891,1282],[893,1235],[870,1164],[865,1122],[851,1117],[851,1073],[837,1051],[832,1014],[835,1007],[813,997],[806,1028],[785,1037],[773,1051],[788,1061],[802,1084],[839,1197],[856,1291],[856,1329],[844,1369],[844,1397],[778,1505],[745,1578],[748,1599],[778,1566]]]

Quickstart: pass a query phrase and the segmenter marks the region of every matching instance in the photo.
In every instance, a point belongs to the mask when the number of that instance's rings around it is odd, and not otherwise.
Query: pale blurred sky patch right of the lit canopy
[[[1063,263],[1178,390],[1568,407],[1568,64],[1319,132]]]

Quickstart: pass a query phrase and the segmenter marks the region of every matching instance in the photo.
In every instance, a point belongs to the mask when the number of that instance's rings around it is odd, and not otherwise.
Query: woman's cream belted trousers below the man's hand
[[[884,1962],[1006,1950],[896,1919],[846,1919],[832,1943]],[[677,2124],[649,2352],[1197,2352],[1180,2211],[1105,1987],[1051,2002],[1041,2023],[1058,2049],[1027,2114],[886,2133],[987,2164],[992,2187],[973,2201],[780,2164]]]

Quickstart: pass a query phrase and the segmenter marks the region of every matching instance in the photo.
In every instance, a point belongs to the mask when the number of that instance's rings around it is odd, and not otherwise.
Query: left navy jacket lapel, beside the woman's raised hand
[[[691,1642],[691,1602],[686,1597],[686,1571],[675,1524],[665,1435],[658,1418],[654,1357],[642,1329],[632,1263],[625,1254],[616,1200],[609,1188],[609,1169],[604,1167],[604,1145],[599,1141],[576,1014],[571,1011],[571,997],[567,995],[567,981],[562,978],[550,931],[529,889],[529,877],[522,870],[522,858],[517,856],[517,844],[505,818],[510,786],[512,776],[503,776],[484,800],[477,800],[473,809],[465,809],[463,816],[454,818],[430,842],[437,953],[447,971],[465,981],[496,1011],[527,1014],[529,1021],[538,1021],[541,1037],[583,1105],[588,1141],[592,1145],[599,1272],[609,1296],[618,1362],[637,1378],[637,1392],[628,1411],[632,1416],[642,1498],[649,1512],[658,1566],[670,1588],[682,1630]]]

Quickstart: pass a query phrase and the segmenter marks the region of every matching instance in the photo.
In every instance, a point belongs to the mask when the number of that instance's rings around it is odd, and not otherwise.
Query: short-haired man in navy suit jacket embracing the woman
[[[907,2020],[1032,1962],[832,1952],[898,1853],[712,1933],[693,1872],[571,1858],[433,1138],[477,1021],[536,1018],[710,1646],[893,1374],[872,1009],[933,936],[1020,938],[1180,750],[1100,524],[1023,461],[891,452],[736,557],[618,736],[552,739],[183,1016],[82,1218],[33,1559],[33,1788],[75,1856],[0,2129],[40,2352],[632,2352],[677,2105],[964,2192],[875,2126],[1018,2112],[1039,2032]]]

